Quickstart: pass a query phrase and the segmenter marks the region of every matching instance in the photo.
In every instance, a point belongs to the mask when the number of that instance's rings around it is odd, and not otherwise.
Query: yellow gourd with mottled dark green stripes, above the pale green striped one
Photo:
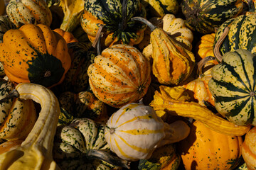
[[[228,35],[225,40],[220,45],[220,55],[224,55],[225,52],[233,52],[238,48],[248,50],[250,52],[256,52],[256,15],[255,13],[250,13],[248,15],[241,15],[236,18],[231,18],[225,21],[215,35],[214,46],[216,42],[223,35],[226,27],[229,27]]]

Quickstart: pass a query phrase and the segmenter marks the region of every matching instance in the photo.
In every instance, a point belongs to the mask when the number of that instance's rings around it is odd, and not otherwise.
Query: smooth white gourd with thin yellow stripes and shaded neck
[[[182,120],[164,123],[150,106],[128,103],[107,120],[105,139],[118,157],[137,161],[149,159],[157,147],[183,140],[189,129]]]

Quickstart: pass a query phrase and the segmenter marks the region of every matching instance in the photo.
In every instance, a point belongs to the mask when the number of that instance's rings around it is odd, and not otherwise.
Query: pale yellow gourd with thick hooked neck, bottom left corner
[[[31,132],[20,147],[0,154],[0,170],[59,169],[52,149],[60,106],[52,91],[44,86],[20,83],[16,91],[21,100],[32,99],[41,104],[41,112]],[[10,94],[13,95],[13,94]]]

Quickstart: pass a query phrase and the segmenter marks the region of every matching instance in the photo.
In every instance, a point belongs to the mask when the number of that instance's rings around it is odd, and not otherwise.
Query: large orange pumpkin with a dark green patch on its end
[[[8,30],[0,44],[0,54],[10,81],[49,88],[63,81],[71,63],[65,40],[43,24]]]

